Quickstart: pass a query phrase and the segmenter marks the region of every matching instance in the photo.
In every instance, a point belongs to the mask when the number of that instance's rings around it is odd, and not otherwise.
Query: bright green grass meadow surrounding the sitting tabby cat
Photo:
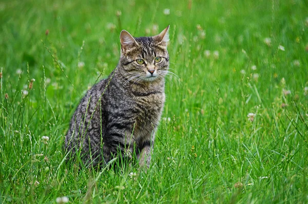
[[[307,8],[299,0],[1,1],[0,203],[307,203]],[[150,169],[63,162],[69,120],[88,86],[117,65],[120,31],[151,35],[168,24],[179,79],[166,83]]]

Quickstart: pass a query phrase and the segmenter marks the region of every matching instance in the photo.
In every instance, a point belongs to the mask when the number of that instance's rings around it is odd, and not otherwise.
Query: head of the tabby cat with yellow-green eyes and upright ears
[[[163,79],[169,68],[169,26],[151,37],[133,38],[129,32],[120,34],[123,75],[132,81],[150,82]]]

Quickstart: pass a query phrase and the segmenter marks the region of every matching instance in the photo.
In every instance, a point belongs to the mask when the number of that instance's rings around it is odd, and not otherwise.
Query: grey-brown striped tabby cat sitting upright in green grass
[[[121,31],[117,67],[87,91],[72,116],[64,143],[68,158],[79,151],[84,164],[95,167],[137,156],[140,166],[149,167],[165,102],[168,31],[140,38]]]

